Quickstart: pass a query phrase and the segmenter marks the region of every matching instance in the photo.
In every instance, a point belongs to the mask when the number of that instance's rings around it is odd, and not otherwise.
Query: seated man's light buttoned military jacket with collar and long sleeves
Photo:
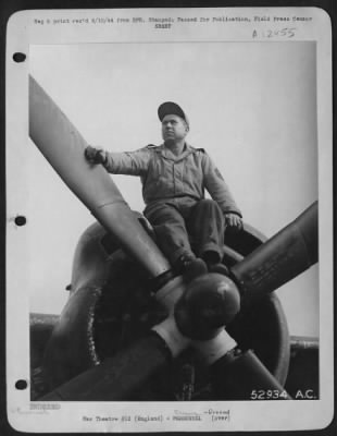
[[[202,148],[186,145],[179,156],[164,144],[129,153],[107,152],[103,166],[113,174],[139,175],[147,206],[178,197],[198,201],[207,190],[224,213],[241,216],[222,174]]]

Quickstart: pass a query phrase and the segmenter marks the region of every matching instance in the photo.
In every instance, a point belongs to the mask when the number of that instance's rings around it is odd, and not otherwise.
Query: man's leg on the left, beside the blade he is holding
[[[158,245],[177,272],[190,270],[190,276],[207,272],[201,259],[192,253],[185,219],[178,209],[171,204],[160,204],[145,215],[154,229]]]

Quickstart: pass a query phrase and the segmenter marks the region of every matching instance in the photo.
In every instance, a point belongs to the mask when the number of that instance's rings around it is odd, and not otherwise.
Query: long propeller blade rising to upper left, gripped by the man
[[[111,177],[84,157],[75,126],[29,76],[29,135],[54,170],[99,222],[152,277],[170,270],[167,259],[140,226]]]

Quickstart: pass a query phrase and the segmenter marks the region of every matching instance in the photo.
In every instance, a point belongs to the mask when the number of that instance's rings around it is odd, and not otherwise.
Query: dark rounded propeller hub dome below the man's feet
[[[211,272],[192,280],[175,305],[174,316],[183,335],[211,339],[240,310],[236,284],[226,276]]]

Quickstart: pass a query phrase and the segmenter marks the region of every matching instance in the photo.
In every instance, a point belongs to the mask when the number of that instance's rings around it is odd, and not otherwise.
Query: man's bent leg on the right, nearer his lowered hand
[[[196,244],[196,253],[203,258],[211,271],[226,272],[222,268],[225,220],[213,199],[201,199],[191,209],[188,230]],[[219,270],[217,270],[219,269]]]

